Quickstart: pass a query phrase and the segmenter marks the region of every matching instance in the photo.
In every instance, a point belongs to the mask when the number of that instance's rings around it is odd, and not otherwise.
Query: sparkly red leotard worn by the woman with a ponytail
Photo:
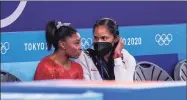
[[[46,57],[38,64],[34,80],[49,79],[83,79],[83,70],[81,65],[74,61],[72,61],[70,69],[66,70]]]

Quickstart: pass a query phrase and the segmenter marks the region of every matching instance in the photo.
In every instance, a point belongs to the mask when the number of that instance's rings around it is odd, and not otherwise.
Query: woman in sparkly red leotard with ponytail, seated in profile
[[[40,61],[34,80],[83,79],[81,65],[70,59],[81,54],[79,33],[68,23],[49,21],[45,34],[48,50],[55,50]]]

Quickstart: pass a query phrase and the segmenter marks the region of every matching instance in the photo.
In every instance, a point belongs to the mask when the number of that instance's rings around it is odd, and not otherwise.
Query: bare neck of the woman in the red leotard
[[[53,59],[55,63],[64,67],[69,67],[70,59],[63,51],[56,51],[53,53]]]

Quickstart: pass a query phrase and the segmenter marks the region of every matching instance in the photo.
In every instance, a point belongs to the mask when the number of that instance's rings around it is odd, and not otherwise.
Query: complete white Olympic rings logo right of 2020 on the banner
[[[155,36],[155,41],[158,43],[158,45],[169,45],[170,42],[173,40],[173,36],[171,34],[157,34]]]

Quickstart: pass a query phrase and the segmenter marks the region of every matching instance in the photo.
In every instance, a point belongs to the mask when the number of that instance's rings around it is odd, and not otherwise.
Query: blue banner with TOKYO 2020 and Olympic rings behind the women
[[[90,47],[92,29],[78,32],[83,49]],[[134,56],[177,53],[184,59],[186,55],[186,24],[120,27],[120,36]],[[44,31],[2,33],[2,62],[39,61],[52,52],[47,51]]]

